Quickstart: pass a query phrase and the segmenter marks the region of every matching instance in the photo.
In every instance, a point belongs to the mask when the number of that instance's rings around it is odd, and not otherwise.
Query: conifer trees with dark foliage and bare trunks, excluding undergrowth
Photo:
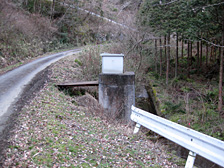
[[[223,83],[223,46],[224,46],[224,2],[217,0],[194,1],[144,1],[139,12],[139,23],[146,30],[154,32],[155,57],[159,59],[159,74],[162,74],[162,63],[166,62],[166,84],[169,79],[171,36],[176,39],[175,73],[186,70],[191,73],[203,73],[208,67],[220,67],[219,74],[219,106],[222,111],[222,83]],[[162,42],[162,39],[164,41]],[[157,42],[159,44],[157,44]],[[181,47],[179,47],[179,43]],[[187,65],[179,67],[179,57],[184,58],[184,45],[187,44]],[[193,53],[193,46],[196,51]],[[162,46],[165,47],[162,47]],[[160,55],[157,48],[159,48]],[[164,56],[162,50],[164,48]],[[181,54],[179,55],[179,50]],[[156,65],[157,66],[157,65]],[[156,68],[157,69],[157,68]],[[207,71],[208,72],[208,71]],[[209,78],[208,72],[206,74]]]

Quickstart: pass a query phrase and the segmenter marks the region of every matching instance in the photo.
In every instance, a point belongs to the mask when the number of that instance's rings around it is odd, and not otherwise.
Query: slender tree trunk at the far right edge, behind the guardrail
[[[222,23],[222,42],[221,46],[224,46],[224,21]],[[222,112],[222,81],[223,81],[223,47],[221,47],[221,55],[220,55],[220,71],[219,71],[219,103],[218,103],[218,111]]]

